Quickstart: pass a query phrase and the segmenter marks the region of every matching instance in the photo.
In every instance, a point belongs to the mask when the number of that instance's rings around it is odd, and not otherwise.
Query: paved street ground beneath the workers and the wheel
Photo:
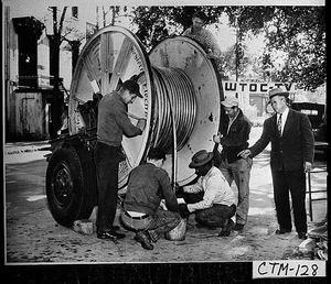
[[[250,142],[259,136],[260,130],[260,128],[253,129]],[[268,149],[254,160],[248,223],[241,233],[232,232],[227,238],[220,238],[217,230],[195,228],[192,215],[184,241],[161,239],[156,243],[153,251],[146,251],[134,240],[135,234],[130,231],[125,231],[127,238],[115,245],[113,242],[98,240],[96,233],[84,236],[57,225],[47,209],[45,199],[47,163],[43,155],[49,153],[46,145],[40,143],[40,150],[24,143],[19,146],[17,144],[6,146],[8,263],[275,260],[292,258],[293,249],[301,243],[295,231],[284,236],[275,234],[277,220]],[[325,165],[325,162],[317,161],[317,166],[321,165]],[[327,173],[312,174],[312,185],[316,189],[325,188]],[[235,186],[233,189],[236,190]],[[316,201],[312,208],[313,221],[321,221],[327,212],[327,203]],[[95,221],[95,211],[90,219]],[[309,217],[308,220],[309,228],[312,228],[313,222]]]

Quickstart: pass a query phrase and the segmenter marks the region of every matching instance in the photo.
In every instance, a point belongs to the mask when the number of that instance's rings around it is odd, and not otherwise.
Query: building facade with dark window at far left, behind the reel
[[[10,6],[2,7],[3,127],[7,141],[47,140],[53,133],[53,14],[52,8],[47,7],[40,12],[42,15],[36,19]],[[77,32],[78,26],[81,33]],[[78,21],[77,7],[67,8],[64,29],[66,39],[60,48],[56,96],[65,105],[74,67],[73,57],[77,58],[79,53],[79,45],[74,51],[71,43],[76,43],[78,39],[79,44],[84,44],[86,39],[86,22]],[[55,111],[61,116],[62,109]]]

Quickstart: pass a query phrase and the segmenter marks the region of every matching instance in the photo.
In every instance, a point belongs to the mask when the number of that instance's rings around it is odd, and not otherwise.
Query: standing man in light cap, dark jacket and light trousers
[[[238,108],[235,97],[226,97],[222,102],[226,119],[220,124],[220,132],[214,135],[214,142],[221,143],[220,170],[228,184],[235,181],[238,188],[236,225],[234,230],[242,230],[247,221],[249,209],[249,177],[253,161],[243,159],[238,153],[248,146],[252,122]]]

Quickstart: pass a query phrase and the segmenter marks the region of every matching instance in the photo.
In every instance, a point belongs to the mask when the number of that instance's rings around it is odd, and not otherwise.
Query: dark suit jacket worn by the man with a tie
[[[277,130],[277,116],[264,122],[260,139],[249,149],[252,156],[259,154],[271,142],[271,171],[293,171],[303,167],[303,162],[313,162],[313,133],[305,113],[289,109],[282,135]]]

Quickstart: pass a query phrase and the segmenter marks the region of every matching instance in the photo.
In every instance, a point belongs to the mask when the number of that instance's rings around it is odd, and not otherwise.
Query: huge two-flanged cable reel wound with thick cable
[[[128,106],[132,117],[147,119],[143,134],[124,138],[126,161],[119,168],[119,187],[129,172],[146,157],[151,146],[168,155],[164,170],[180,185],[194,179],[189,168],[192,155],[212,151],[223,99],[220,75],[202,46],[184,36],[170,37],[147,54],[139,39],[119,26],[94,34],[77,61],[70,96],[70,133],[87,127],[78,106],[93,99],[95,87],[106,95],[135,76],[143,99]],[[132,123],[137,121],[131,118]],[[172,125],[175,125],[173,128]]]

